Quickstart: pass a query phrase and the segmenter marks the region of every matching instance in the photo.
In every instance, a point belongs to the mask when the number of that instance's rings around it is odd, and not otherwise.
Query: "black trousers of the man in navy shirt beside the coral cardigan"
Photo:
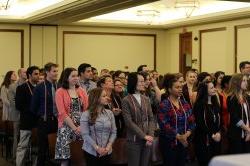
[[[48,134],[56,133],[57,131],[57,118],[50,117],[47,121],[40,118],[37,123],[37,141],[38,141],[38,158],[37,166],[44,166],[48,155]]]

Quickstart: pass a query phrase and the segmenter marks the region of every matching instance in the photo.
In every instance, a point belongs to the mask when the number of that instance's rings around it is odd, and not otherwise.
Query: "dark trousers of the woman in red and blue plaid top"
[[[164,166],[185,165],[187,149],[181,143],[171,146],[169,140],[164,137],[159,137],[159,143]]]

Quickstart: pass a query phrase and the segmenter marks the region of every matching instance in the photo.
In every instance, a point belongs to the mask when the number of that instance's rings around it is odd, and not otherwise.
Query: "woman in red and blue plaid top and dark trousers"
[[[181,99],[182,85],[175,75],[165,75],[163,86],[166,94],[160,103],[158,123],[164,166],[184,166],[188,138],[195,126],[192,109]]]

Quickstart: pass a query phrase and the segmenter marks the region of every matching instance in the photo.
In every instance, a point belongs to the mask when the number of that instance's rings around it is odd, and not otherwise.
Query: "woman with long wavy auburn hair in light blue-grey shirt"
[[[82,148],[87,166],[108,166],[110,163],[116,126],[113,112],[105,109],[107,104],[104,89],[95,88],[89,92],[89,105],[81,117]]]

